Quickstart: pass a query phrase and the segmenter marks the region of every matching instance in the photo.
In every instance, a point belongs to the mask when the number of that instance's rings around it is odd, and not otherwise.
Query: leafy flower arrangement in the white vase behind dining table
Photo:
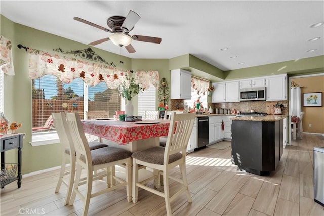
[[[142,92],[143,87],[135,82],[134,77],[129,77],[127,74],[125,75],[124,82],[119,87],[119,95],[126,100],[132,100],[132,98]]]

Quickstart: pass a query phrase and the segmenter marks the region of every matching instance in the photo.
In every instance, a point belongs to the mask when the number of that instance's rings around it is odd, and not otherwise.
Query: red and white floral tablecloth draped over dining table
[[[87,134],[125,145],[135,140],[167,136],[170,121],[160,120],[156,124],[137,124],[114,120],[85,120],[82,121],[82,126]]]

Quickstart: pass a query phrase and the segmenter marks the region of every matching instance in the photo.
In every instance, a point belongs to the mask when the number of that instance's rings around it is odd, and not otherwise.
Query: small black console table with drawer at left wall
[[[5,185],[14,182],[15,180],[18,180],[17,185],[18,188],[21,186],[21,149],[22,149],[22,139],[25,136],[24,133],[17,133],[17,134],[6,134],[0,137],[0,144],[1,144],[1,188],[4,188]],[[11,176],[10,172],[9,174],[6,173],[6,158],[5,158],[5,151],[11,150],[11,149],[18,149],[18,163],[14,164],[18,166],[18,175],[15,176],[16,171]]]

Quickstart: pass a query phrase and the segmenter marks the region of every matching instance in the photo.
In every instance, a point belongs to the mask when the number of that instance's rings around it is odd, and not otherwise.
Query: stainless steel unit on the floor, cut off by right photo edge
[[[314,200],[324,206],[324,147],[314,147]]]

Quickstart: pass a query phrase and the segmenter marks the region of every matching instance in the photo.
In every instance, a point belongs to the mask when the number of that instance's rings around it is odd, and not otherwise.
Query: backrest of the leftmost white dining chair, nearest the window
[[[70,134],[69,128],[66,122],[66,117],[64,112],[52,113],[52,116],[56,128],[56,132],[60,139],[62,152],[65,152],[65,150],[68,148],[70,155],[75,155],[75,153],[73,154],[73,152],[75,152],[73,146],[73,140],[69,136]]]

